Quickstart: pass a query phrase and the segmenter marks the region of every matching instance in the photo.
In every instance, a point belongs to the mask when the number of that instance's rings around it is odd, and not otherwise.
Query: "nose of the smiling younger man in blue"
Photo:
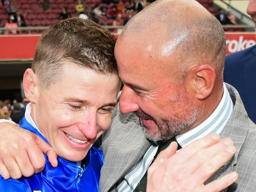
[[[89,113],[83,117],[83,122],[78,125],[78,129],[87,139],[93,139],[97,135],[97,116],[96,113]]]

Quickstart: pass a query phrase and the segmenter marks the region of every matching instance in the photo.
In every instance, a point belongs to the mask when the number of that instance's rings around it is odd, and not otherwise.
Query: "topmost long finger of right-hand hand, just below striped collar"
[[[179,164],[187,162],[191,157],[193,157],[198,151],[201,151],[205,148],[208,148],[220,140],[220,136],[217,133],[212,133],[206,135],[205,137],[192,142],[191,144],[182,148],[177,154],[176,159],[178,160]]]

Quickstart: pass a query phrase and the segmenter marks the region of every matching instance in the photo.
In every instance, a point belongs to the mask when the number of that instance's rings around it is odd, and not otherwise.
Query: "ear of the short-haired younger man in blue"
[[[35,73],[30,68],[28,68],[24,73],[23,89],[26,98],[28,98],[30,102],[35,103],[38,95],[38,82]]]

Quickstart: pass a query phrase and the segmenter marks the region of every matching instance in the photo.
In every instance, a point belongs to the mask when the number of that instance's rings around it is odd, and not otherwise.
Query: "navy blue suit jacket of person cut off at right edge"
[[[224,82],[236,88],[249,118],[256,123],[256,45],[226,56]]]

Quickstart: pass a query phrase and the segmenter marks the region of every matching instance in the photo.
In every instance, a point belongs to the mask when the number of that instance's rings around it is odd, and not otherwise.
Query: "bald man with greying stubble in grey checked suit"
[[[101,192],[255,191],[256,127],[223,83],[225,48],[218,20],[193,0],[156,1],[128,22],[115,46],[124,88],[102,138]],[[1,149],[35,144],[3,130]]]

